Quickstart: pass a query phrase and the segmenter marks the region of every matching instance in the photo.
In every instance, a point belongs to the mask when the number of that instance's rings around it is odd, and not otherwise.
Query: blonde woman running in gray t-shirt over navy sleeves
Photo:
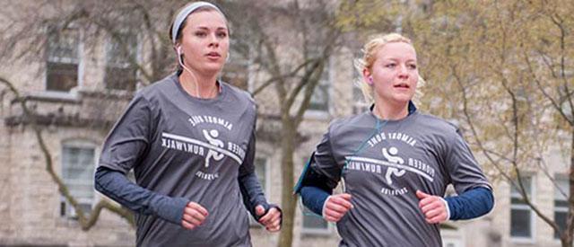
[[[456,126],[413,104],[411,40],[370,40],[357,61],[370,110],[333,121],[301,174],[303,204],[336,222],[339,246],[442,246],[439,224],[490,212],[491,185]],[[339,181],[344,193],[331,195]],[[442,198],[448,184],[458,196]]]

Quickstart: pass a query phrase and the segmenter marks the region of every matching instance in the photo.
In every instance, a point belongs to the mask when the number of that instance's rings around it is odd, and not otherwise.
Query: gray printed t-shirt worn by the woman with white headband
[[[254,170],[256,107],[248,93],[220,85],[216,98],[198,99],[171,75],[137,93],[110,132],[100,165],[133,168],[143,188],[209,212],[193,230],[136,215],[138,246],[251,245],[238,175]]]

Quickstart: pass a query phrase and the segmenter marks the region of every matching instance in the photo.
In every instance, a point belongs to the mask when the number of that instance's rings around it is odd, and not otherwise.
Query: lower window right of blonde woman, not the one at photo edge
[[[514,182],[517,184],[517,181]],[[528,198],[533,200],[533,177],[522,178],[523,186]],[[518,185],[517,185],[518,186]],[[532,210],[519,192],[519,189],[511,185],[510,192],[510,236],[517,239],[531,239],[534,236],[535,218]]]

